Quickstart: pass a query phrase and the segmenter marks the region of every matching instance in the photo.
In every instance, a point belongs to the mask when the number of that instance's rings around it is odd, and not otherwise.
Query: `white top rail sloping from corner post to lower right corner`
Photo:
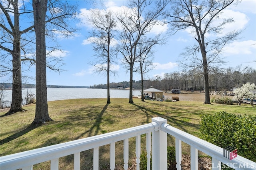
[[[227,164],[228,166],[230,165],[232,168],[232,165],[243,165],[246,164],[246,168],[255,170],[256,169],[256,163],[246,159],[242,156],[237,155],[236,158],[232,159],[232,160],[228,160],[227,158],[225,158],[223,156],[223,148],[218,147],[212,143],[209,143],[207,141],[204,141],[198,137],[195,137],[193,135],[190,135],[189,133],[186,133],[184,131],[181,131],[175,127],[172,127],[171,125],[167,124],[167,123],[162,123],[161,125],[161,130],[168,133],[169,135],[174,136],[177,139],[180,139],[181,141],[187,143],[188,145],[195,147],[196,149],[208,154],[209,156],[212,156],[212,158],[215,158],[219,161],[221,161],[224,164]],[[241,168],[237,168],[237,167],[233,167],[236,168],[236,170],[238,169],[244,169],[244,167]]]

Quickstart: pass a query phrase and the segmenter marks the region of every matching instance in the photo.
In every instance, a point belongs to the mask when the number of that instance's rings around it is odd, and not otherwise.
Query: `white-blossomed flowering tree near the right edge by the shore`
[[[243,84],[242,87],[236,88],[236,90],[233,91],[235,94],[235,98],[238,101],[238,105],[241,105],[241,102],[245,96],[249,97],[252,101],[256,95],[252,93],[252,90],[256,90],[256,85],[254,83],[250,84],[247,82],[246,84]]]

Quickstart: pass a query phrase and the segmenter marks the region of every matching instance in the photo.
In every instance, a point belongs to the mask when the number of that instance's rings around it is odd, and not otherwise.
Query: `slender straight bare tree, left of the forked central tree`
[[[116,56],[114,48],[114,28],[116,21],[110,11],[99,9],[91,10],[88,18],[94,26],[94,30],[90,33],[88,41],[93,43],[93,49],[96,52],[97,60],[92,65],[96,68],[96,72],[106,72],[107,74],[107,103],[110,104],[110,72],[115,74],[115,71],[110,70],[113,57]]]

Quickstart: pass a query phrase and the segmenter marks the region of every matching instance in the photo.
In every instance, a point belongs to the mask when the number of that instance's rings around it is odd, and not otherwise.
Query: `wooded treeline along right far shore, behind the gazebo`
[[[230,68],[211,68],[209,70],[210,91],[230,91],[241,87],[246,82],[256,84],[256,70],[254,68],[241,66]],[[154,88],[170,91],[178,88],[180,90],[204,91],[204,76],[200,69],[192,69],[187,72],[171,72],[164,76],[155,76],[149,80],[144,80],[144,89]],[[107,84],[98,84],[90,88],[106,88]],[[129,82],[110,83],[111,88],[128,88]],[[133,82],[134,89],[141,89],[141,80]]]

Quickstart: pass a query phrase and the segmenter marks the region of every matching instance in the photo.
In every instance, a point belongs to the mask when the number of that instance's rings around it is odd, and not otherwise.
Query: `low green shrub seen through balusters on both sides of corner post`
[[[140,170],[147,169],[147,152],[142,150],[140,154]],[[167,147],[167,166],[168,170],[176,170],[175,147]],[[152,156],[150,158],[150,169],[152,170]]]

